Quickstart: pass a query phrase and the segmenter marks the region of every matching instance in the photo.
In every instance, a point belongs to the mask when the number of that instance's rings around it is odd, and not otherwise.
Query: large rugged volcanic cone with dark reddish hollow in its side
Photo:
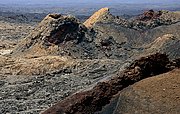
[[[127,59],[118,39],[107,37],[97,43],[98,37],[72,16],[50,14],[18,44],[12,55]]]

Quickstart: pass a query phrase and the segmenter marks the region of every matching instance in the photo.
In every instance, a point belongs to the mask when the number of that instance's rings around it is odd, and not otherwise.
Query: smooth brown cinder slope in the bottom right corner
[[[180,69],[142,80],[120,92],[114,114],[178,114]]]

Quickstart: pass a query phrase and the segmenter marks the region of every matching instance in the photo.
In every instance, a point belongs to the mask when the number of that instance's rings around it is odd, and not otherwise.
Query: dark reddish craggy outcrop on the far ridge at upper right
[[[136,30],[147,30],[162,25],[171,25],[180,22],[179,12],[170,11],[145,11],[138,17],[129,20],[131,28]]]

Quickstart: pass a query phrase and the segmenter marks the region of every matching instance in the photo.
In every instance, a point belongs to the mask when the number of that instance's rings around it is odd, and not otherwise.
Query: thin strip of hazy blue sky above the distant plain
[[[0,0],[0,4],[61,3],[180,3],[180,0]]]

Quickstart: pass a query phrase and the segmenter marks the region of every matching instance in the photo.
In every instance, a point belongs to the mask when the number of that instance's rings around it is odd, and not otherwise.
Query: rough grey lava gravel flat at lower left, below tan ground
[[[121,65],[120,61],[104,65],[94,62],[81,69],[69,68],[42,76],[0,76],[0,113],[38,114],[111,76]]]

